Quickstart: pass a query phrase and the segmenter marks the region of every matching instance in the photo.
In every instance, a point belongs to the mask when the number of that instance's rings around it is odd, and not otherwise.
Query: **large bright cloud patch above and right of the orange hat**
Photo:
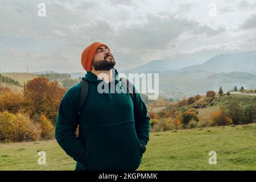
[[[202,26],[197,22],[175,18],[171,15],[148,15],[147,19],[148,22],[143,26],[134,26],[118,31],[118,36],[113,36],[111,39],[122,47],[164,50],[168,43],[174,42],[176,38],[187,31],[195,35],[207,34],[208,36],[224,31],[224,28],[215,30],[207,25]]]

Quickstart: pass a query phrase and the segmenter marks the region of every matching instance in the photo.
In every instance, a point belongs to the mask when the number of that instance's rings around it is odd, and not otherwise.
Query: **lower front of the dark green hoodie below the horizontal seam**
[[[94,170],[135,170],[141,163],[142,148],[133,122],[106,127],[86,127],[85,166]]]

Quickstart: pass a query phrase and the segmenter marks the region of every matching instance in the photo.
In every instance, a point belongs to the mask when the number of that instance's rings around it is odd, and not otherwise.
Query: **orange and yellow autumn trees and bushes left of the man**
[[[0,141],[52,138],[66,91],[57,81],[50,82],[46,77],[28,81],[23,94],[0,85]]]

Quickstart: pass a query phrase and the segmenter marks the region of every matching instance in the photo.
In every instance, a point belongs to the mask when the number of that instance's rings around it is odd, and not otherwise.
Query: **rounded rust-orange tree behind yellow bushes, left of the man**
[[[26,83],[23,88],[24,102],[31,118],[38,121],[45,114],[55,124],[57,111],[65,89],[56,81],[49,82],[46,77],[36,77]]]

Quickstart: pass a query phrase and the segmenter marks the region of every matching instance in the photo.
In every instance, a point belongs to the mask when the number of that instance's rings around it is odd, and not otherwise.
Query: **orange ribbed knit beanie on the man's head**
[[[82,63],[82,67],[84,67],[86,71],[90,72],[90,70],[92,69],[92,62],[93,62],[94,56],[96,54],[97,49],[101,46],[106,46],[106,45],[100,42],[94,42],[90,44],[90,46],[86,47],[84,51],[82,51],[81,63]],[[106,46],[106,48],[109,49],[108,46]]]

